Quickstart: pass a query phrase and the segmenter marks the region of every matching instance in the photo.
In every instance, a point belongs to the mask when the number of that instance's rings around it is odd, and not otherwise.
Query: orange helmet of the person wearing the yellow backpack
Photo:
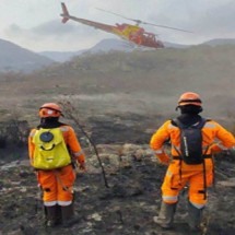
[[[39,117],[47,118],[47,117],[60,117],[62,115],[62,110],[59,105],[55,103],[46,103],[40,106],[39,108]]]

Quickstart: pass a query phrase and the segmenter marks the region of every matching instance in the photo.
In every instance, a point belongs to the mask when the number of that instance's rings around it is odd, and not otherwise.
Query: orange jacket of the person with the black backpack
[[[151,149],[154,150],[157,158],[163,163],[168,163],[169,161],[169,157],[164,152],[164,142],[167,140],[171,140],[172,143],[172,155],[178,156],[174,146],[179,149],[180,130],[178,127],[172,125],[172,120],[165,121],[165,124],[163,124],[152,136],[150,141]],[[216,140],[220,140],[220,142],[215,142]],[[209,120],[202,128],[202,148],[205,150],[208,146],[207,154],[213,154],[215,151],[235,148],[235,138],[218,122]]]

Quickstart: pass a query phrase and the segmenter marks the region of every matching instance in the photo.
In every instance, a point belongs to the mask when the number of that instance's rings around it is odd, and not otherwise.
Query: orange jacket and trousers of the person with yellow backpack
[[[62,131],[64,142],[72,153],[72,157],[80,164],[84,164],[85,156],[80,146],[80,143],[75,137],[75,132],[72,127],[62,125],[60,127]],[[36,129],[33,129],[28,137],[28,153],[30,157],[34,156],[35,144],[33,143],[33,137]],[[67,205],[72,202],[72,186],[75,180],[75,173],[72,164],[52,171],[37,171],[37,179],[44,191],[44,204],[45,205]]]

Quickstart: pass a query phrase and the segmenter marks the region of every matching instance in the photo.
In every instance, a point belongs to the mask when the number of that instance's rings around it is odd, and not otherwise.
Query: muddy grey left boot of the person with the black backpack
[[[169,230],[173,227],[176,203],[168,204],[162,201],[160,214],[155,216],[154,222],[163,228]]]

